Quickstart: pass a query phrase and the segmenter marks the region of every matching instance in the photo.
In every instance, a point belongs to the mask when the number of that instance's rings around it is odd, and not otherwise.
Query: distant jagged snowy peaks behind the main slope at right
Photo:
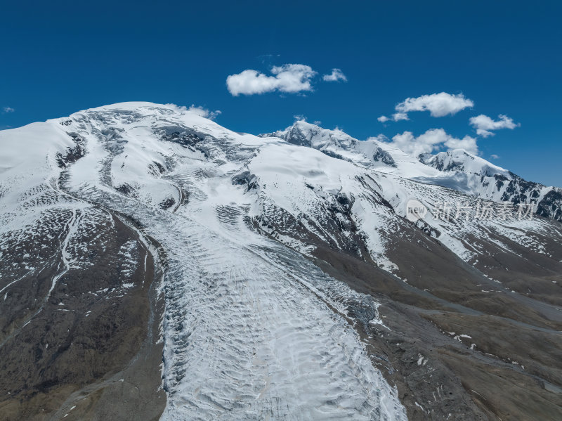
[[[450,187],[495,202],[511,202],[514,205],[532,202],[538,215],[562,220],[561,188],[525,181],[511,171],[462,149],[436,155],[424,154],[417,159],[384,141],[358,141],[341,130],[322,129],[303,121],[264,136],[276,136],[377,171]]]

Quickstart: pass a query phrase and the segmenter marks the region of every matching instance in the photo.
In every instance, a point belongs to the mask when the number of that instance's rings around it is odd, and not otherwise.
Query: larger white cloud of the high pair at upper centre
[[[233,96],[254,95],[273,91],[296,93],[312,91],[311,79],[316,75],[310,66],[287,64],[271,68],[274,76],[257,70],[244,70],[226,78],[226,86]]]

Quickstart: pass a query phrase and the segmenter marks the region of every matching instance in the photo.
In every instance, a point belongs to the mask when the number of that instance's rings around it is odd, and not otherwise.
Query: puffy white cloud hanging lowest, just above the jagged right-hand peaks
[[[393,136],[391,144],[414,157],[421,153],[432,153],[440,148],[464,149],[468,153],[478,154],[476,138],[471,136],[464,136],[462,139],[455,138],[443,129],[429,129],[417,137],[411,131],[405,131],[403,134]]]

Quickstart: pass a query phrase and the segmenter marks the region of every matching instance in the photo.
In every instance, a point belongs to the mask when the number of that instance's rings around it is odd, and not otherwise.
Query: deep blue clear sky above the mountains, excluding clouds
[[[254,134],[295,115],[360,139],[444,129],[525,179],[562,186],[561,16],[560,1],[2,1],[0,128],[152,101],[221,110],[219,124]],[[312,90],[227,89],[244,70],[273,86],[271,70],[287,64],[316,72],[304,79]],[[334,68],[346,82],[322,80]],[[440,92],[473,107],[377,120]],[[478,115],[519,126],[477,136]]]

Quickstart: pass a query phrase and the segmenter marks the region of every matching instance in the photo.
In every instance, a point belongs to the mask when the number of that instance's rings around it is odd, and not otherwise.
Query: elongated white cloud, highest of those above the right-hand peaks
[[[432,117],[443,117],[445,115],[457,114],[464,108],[473,107],[474,103],[469,98],[464,98],[462,93],[451,95],[450,93],[432,93],[417,98],[406,98],[396,105],[398,112],[429,111]]]

